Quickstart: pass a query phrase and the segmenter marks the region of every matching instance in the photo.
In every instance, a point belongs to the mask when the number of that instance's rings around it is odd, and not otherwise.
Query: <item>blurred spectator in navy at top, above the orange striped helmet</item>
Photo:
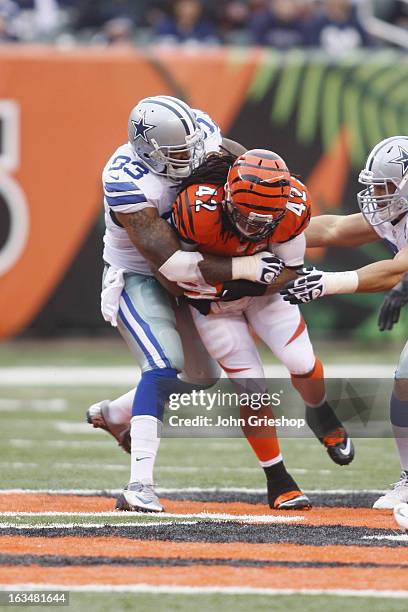
[[[307,28],[298,0],[256,0],[251,3],[249,20],[252,43],[275,49],[301,47],[307,39]]]

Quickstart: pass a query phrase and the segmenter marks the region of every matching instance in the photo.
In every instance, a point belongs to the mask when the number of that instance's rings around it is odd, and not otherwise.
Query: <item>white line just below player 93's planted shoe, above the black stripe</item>
[[[130,514],[132,516],[133,513]],[[140,513],[135,512],[134,515],[141,516]],[[303,521],[304,516],[271,516],[270,514],[227,514],[227,513],[212,513],[212,512],[193,512],[187,514],[173,514],[172,512],[160,512],[157,514],[151,514],[143,516],[143,518],[149,519],[150,516],[160,516],[160,518],[185,518],[185,519],[204,519],[204,520],[218,520],[218,521],[244,521],[246,523],[293,523]],[[0,512],[0,517],[56,517],[56,516],[88,516],[91,517],[109,517],[119,518],[121,514],[115,511],[111,512]],[[9,523],[7,523],[9,524]],[[55,523],[57,524],[57,523]],[[83,524],[83,523],[82,523]],[[78,526],[82,525],[77,523]],[[117,525],[118,523],[112,523]],[[121,523],[122,524],[122,523]],[[128,523],[124,523],[128,524]],[[0,523],[0,528],[3,528],[3,524]],[[62,526],[64,523],[62,523]],[[168,523],[166,523],[168,525]]]

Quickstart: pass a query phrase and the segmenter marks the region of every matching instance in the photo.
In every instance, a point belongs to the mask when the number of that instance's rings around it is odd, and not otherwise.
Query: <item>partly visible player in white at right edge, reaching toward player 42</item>
[[[314,217],[306,230],[308,247],[358,246],[384,240],[395,257],[358,270],[323,272],[305,268],[282,292],[293,304],[324,295],[388,291],[408,271],[408,136],[393,136],[378,143],[368,156],[357,195],[361,213]],[[408,502],[408,343],[395,372],[390,417],[401,462],[401,476],[374,508],[393,508]]]

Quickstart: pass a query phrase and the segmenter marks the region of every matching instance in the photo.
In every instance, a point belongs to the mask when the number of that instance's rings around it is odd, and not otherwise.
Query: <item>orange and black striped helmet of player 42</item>
[[[225,209],[237,234],[258,242],[283,219],[289,194],[290,172],[283,159],[266,149],[252,149],[230,168]]]

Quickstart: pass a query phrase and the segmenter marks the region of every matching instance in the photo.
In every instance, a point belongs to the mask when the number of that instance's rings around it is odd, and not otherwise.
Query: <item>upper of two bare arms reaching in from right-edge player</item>
[[[359,246],[379,240],[361,213],[312,217],[305,235],[307,248]]]

